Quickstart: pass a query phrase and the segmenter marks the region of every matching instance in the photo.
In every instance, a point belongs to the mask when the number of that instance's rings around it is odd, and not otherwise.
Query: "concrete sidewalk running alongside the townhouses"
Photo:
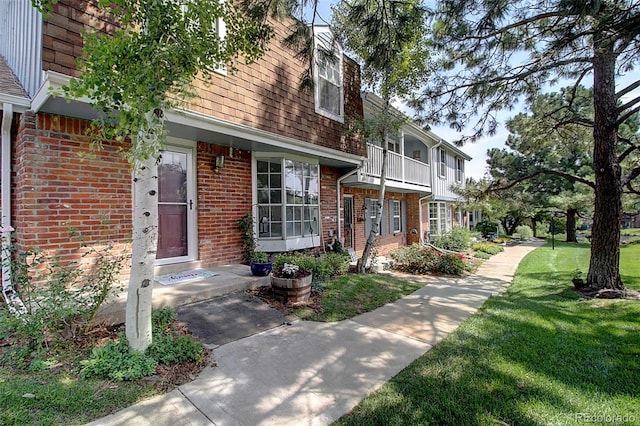
[[[91,424],[330,424],[503,292],[542,244],[507,247],[472,276],[424,277],[420,290],[351,320],[296,321],[224,344],[195,381]]]

